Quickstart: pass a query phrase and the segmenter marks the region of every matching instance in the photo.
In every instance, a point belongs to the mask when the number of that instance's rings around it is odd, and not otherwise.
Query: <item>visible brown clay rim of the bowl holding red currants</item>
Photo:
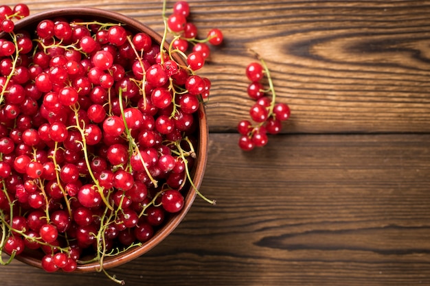
[[[41,12],[38,14],[30,15],[21,21],[16,22],[16,29],[25,29],[27,32],[34,33],[36,25],[43,19],[55,19],[58,17],[63,17],[67,20],[72,19],[82,19],[85,21],[101,21],[106,23],[123,23],[131,30],[131,32],[146,32],[152,37],[152,40],[156,43],[161,43],[161,35],[153,31],[143,23],[136,21],[134,19],[128,18],[122,14],[116,12],[109,12],[107,10],[100,10],[96,8],[61,8],[55,10],[47,10],[46,12]],[[1,34],[0,34],[1,36]],[[166,49],[168,45],[166,44]],[[176,58],[177,62],[182,62],[182,58]],[[185,65],[185,64],[183,64]],[[198,117],[199,128],[198,128],[198,145],[196,146],[197,159],[194,163],[192,169],[192,180],[197,188],[200,187],[203,180],[203,174],[206,166],[207,159],[207,121],[205,110],[203,106],[200,107],[198,112],[196,112]],[[172,231],[179,225],[182,219],[185,217],[186,213],[190,209],[190,206],[194,202],[196,192],[190,187],[188,190],[183,190],[183,195],[185,198],[185,204],[179,213],[175,213],[168,218],[167,222],[163,224],[161,228],[157,230],[155,235],[149,241],[145,242],[142,246],[134,247],[126,252],[122,252],[114,257],[106,257],[104,259],[103,267],[104,269],[109,269],[111,267],[116,267],[131,261],[142,254],[151,250],[157,244],[159,244],[163,239],[165,239]],[[41,268],[41,258],[43,257],[42,252],[23,252],[16,257],[19,261],[27,263],[28,265],[33,265],[35,267]],[[94,272],[100,268],[98,262],[89,263],[85,265],[78,265],[77,272]]]

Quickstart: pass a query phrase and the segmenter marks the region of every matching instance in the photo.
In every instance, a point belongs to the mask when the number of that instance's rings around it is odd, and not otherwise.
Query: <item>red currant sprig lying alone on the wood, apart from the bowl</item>
[[[269,140],[267,134],[278,134],[282,128],[282,121],[286,121],[291,115],[287,104],[276,102],[269,67],[258,53],[256,57],[260,62],[251,62],[246,69],[247,78],[251,81],[247,93],[249,97],[256,100],[256,104],[253,104],[249,110],[254,123],[249,120],[238,123],[238,132],[241,134],[238,145],[244,151],[266,145]],[[263,87],[264,78],[267,78],[269,83],[268,89]]]

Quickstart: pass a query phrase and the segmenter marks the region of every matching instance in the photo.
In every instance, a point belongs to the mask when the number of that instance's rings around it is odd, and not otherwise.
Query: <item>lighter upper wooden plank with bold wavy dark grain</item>
[[[13,1],[12,1],[13,3]],[[92,6],[163,30],[161,1],[28,1],[33,12]],[[174,1],[168,1],[172,7]],[[212,80],[210,130],[248,119],[245,67],[269,64],[278,101],[290,104],[284,132],[429,132],[429,1],[190,1],[200,37],[218,27],[201,75]]]

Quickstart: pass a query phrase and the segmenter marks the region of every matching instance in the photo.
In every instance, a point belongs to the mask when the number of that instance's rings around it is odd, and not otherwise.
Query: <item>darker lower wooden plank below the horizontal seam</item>
[[[429,134],[283,135],[243,153],[211,134],[201,191],[126,285],[429,285]],[[21,273],[25,272],[25,276]],[[100,285],[14,262],[2,285]],[[113,285],[113,283],[112,283]]]

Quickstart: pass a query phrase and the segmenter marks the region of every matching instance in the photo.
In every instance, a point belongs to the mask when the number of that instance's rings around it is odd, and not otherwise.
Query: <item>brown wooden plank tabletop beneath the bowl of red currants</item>
[[[161,1],[26,3],[33,14],[104,8],[163,29]],[[201,191],[217,204],[196,199],[168,239],[111,273],[126,285],[430,285],[430,1],[190,5],[202,35],[225,34],[201,71],[212,80]],[[242,152],[249,49],[292,115],[266,147]],[[3,286],[114,285],[17,261],[0,275]]]

